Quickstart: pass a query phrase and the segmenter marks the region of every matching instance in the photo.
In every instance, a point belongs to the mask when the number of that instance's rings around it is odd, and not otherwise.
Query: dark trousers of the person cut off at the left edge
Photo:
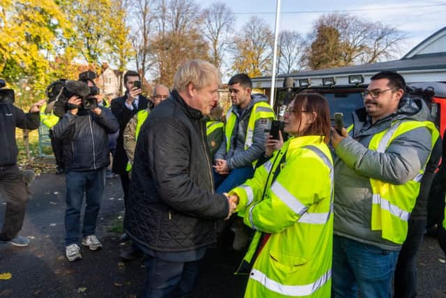
[[[0,167],[0,192],[6,195],[6,212],[0,240],[8,241],[22,230],[30,194],[17,165]]]

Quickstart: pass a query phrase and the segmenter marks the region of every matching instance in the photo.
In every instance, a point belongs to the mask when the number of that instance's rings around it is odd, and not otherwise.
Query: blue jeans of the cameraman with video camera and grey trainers
[[[65,212],[66,246],[79,241],[79,220],[85,193],[82,235],[95,234],[96,220],[105,187],[105,167],[84,172],[67,172],[67,209]]]

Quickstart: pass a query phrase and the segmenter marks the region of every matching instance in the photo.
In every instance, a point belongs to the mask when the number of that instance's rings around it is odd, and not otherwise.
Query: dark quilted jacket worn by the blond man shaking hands
[[[215,241],[229,213],[214,193],[206,122],[177,91],[157,105],[139,132],[125,205],[125,232],[153,251],[192,251]]]

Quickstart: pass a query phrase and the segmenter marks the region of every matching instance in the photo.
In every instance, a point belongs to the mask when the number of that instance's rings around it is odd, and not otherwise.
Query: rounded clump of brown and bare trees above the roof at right
[[[395,58],[404,38],[397,29],[380,22],[332,13],[323,15],[314,24],[304,58],[312,69],[369,64]]]

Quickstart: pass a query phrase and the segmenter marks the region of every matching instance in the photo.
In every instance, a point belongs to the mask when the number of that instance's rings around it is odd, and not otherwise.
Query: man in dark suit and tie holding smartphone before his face
[[[144,110],[149,105],[150,101],[141,95],[141,77],[136,71],[128,70],[124,75],[125,94],[124,96],[112,100],[111,108],[114,117],[119,122],[119,135],[116,140],[116,151],[113,160],[113,172],[119,174],[121,177],[121,185],[124,192],[124,205],[127,204],[128,188],[130,179],[126,170],[128,157],[124,150],[123,132],[128,121],[137,114],[137,112]],[[121,241],[127,240],[124,234]]]

